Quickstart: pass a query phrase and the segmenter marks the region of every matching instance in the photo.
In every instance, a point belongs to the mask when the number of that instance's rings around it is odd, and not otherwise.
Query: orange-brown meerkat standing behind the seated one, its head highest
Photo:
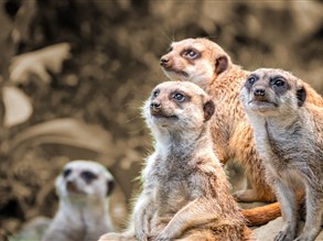
[[[207,39],[172,43],[160,65],[171,80],[197,84],[216,103],[211,120],[214,150],[222,163],[235,160],[241,164],[252,187],[236,191],[236,200],[274,201],[274,193],[265,178],[265,167],[255,147],[252,130],[239,102],[240,86],[249,72],[233,64],[229,55]],[[308,84],[304,88],[306,101],[323,107],[322,97]]]

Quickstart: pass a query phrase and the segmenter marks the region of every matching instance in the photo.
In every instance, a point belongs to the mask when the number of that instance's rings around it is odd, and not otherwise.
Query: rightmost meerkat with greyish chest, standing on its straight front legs
[[[277,241],[298,233],[295,190],[305,190],[305,226],[295,240],[313,241],[323,215],[323,108],[306,99],[304,83],[272,68],[252,72],[241,89],[241,102],[254,128],[268,182],[277,193],[284,227]]]

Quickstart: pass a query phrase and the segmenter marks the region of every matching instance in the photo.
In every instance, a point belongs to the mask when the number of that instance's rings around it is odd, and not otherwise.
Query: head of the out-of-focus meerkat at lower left
[[[111,194],[114,186],[108,169],[91,161],[69,162],[56,178],[57,195],[69,200],[103,199]]]

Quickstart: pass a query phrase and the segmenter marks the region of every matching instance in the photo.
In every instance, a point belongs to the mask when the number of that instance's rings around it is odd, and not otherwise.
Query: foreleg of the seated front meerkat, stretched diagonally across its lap
[[[166,224],[154,241],[173,240],[189,228],[207,224],[218,219],[213,201],[206,198],[195,199],[189,202]]]

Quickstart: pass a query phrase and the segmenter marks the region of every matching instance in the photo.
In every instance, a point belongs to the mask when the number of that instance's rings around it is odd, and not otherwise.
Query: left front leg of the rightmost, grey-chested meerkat
[[[290,241],[297,234],[298,226],[298,206],[297,196],[292,188],[288,187],[281,180],[276,179],[274,186],[278,199],[281,205],[282,218],[284,221],[283,229],[274,238],[274,241]]]

